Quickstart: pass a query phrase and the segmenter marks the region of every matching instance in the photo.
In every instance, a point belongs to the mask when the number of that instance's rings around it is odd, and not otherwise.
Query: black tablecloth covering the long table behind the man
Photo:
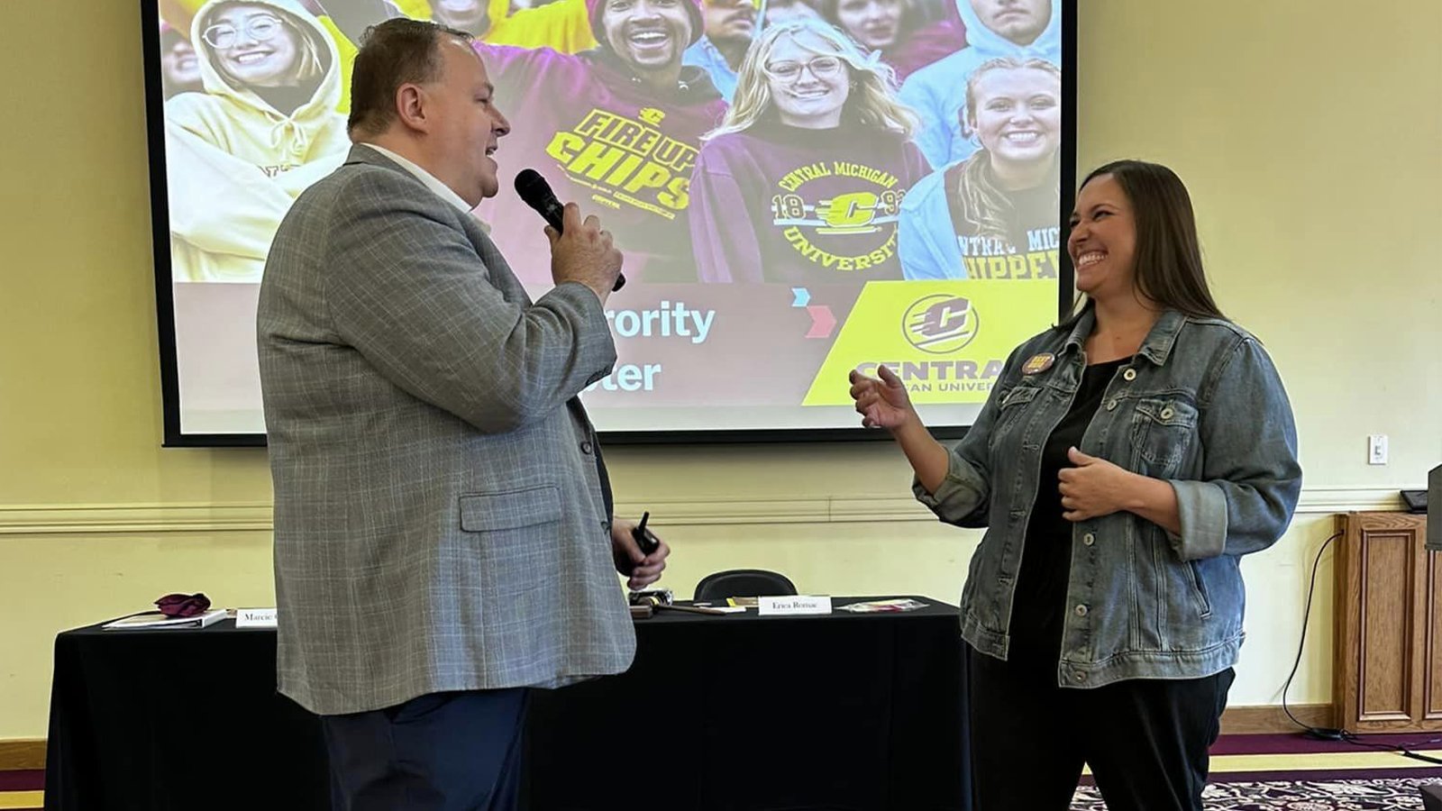
[[[836,599],[844,605],[867,597]],[[630,671],[532,693],[535,811],[963,810],[956,609],[636,622]],[[316,719],[275,693],[275,632],[61,634],[45,807],[329,807]]]

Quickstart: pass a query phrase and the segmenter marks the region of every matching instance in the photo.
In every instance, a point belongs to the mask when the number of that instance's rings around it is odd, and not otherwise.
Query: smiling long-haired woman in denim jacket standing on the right
[[[988,528],[962,593],[978,807],[1066,810],[1087,763],[1112,811],[1200,811],[1240,558],[1301,491],[1292,408],[1213,302],[1169,169],[1089,175],[1067,253],[1084,304],[1012,352],[956,447],[890,369],[852,372],[851,393],[923,504]]]

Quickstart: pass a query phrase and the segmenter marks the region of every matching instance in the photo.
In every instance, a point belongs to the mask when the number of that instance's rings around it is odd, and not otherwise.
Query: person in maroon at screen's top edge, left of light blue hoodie
[[[966,46],[960,20],[926,23],[914,0],[820,0],[820,16],[864,49],[880,52],[897,84]]]

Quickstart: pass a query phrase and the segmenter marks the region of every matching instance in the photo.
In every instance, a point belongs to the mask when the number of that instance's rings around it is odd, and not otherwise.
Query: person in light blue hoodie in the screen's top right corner
[[[901,101],[917,111],[916,143],[932,166],[947,166],[976,150],[963,133],[966,76],[989,59],[1045,59],[1061,63],[1061,0],[956,0],[966,26],[966,48],[911,74]]]

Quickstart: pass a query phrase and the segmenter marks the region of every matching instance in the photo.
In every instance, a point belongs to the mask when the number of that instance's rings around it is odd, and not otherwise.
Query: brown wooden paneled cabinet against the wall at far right
[[[1442,730],[1442,554],[1426,515],[1337,517],[1334,726]]]

